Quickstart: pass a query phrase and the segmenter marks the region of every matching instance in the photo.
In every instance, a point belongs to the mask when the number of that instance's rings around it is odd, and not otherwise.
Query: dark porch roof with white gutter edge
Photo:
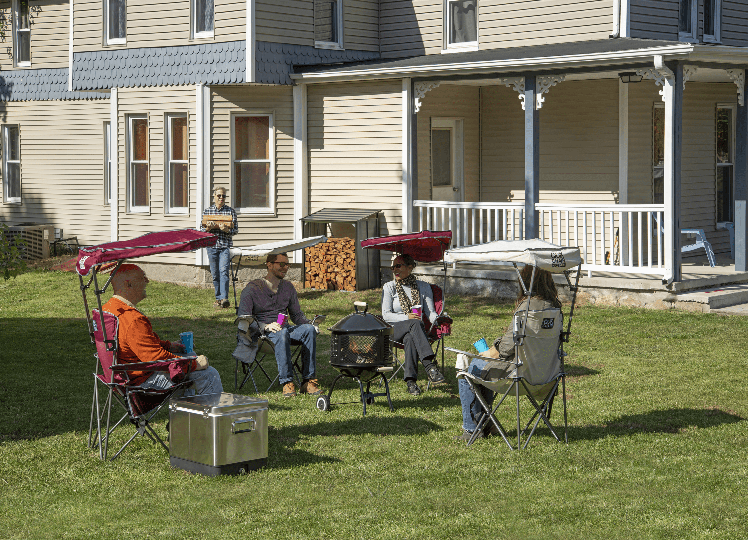
[[[563,72],[595,66],[651,65],[655,56],[692,63],[726,63],[744,68],[748,47],[705,46],[665,40],[620,37],[507,47],[449,55],[384,58],[355,63],[294,66],[290,77],[298,83],[358,81],[376,78],[457,77],[518,72]]]

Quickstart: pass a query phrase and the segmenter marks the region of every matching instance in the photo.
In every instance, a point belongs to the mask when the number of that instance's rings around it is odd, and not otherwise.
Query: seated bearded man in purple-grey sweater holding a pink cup
[[[255,279],[242,291],[239,302],[239,315],[252,315],[254,323],[250,326],[253,340],[260,332],[268,336],[275,346],[275,361],[278,363],[279,382],[283,386],[283,397],[294,397],[296,387],[293,384],[293,363],[291,345],[301,344],[301,394],[317,396],[322,394],[315,376],[316,371],[316,335],[319,327],[304,316],[298,305],[296,289],[285,279],[289,270],[288,255],[278,253],[268,255],[266,265],[268,274]],[[288,313],[295,326],[289,326],[286,317],[279,314]],[[282,324],[279,323],[282,320]]]

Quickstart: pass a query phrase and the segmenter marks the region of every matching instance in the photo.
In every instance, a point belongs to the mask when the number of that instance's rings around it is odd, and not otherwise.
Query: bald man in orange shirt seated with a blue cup
[[[114,296],[102,308],[120,321],[117,331],[117,361],[132,364],[141,361],[159,361],[184,356],[185,346],[179,341],[159,339],[150,326],[150,320],[135,305],[146,297],[148,278],[137,264],[122,264],[111,280]],[[208,364],[205,356],[195,356],[188,379],[194,389],[188,388],[185,395],[215,394],[224,391],[221,375]],[[169,388],[168,375],[159,371],[130,371],[130,383],[144,388]]]

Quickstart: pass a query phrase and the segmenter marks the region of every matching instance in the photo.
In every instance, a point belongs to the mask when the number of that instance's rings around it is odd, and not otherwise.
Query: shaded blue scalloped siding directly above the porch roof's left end
[[[333,49],[315,49],[306,45],[289,45],[287,43],[255,43],[254,67],[257,82],[265,84],[292,84],[288,76],[291,67],[311,63],[361,62],[379,58],[378,52],[369,51],[335,51]]]

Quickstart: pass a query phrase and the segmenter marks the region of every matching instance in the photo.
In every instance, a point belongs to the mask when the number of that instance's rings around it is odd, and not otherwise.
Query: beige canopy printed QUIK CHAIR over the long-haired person
[[[582,264],[578,247],[557,246],[540,238],[528,240],[494,240],[474,246],[449,249],[444,253],[444,262],[498,261],[532,264],[551,273],[562,273]]]

